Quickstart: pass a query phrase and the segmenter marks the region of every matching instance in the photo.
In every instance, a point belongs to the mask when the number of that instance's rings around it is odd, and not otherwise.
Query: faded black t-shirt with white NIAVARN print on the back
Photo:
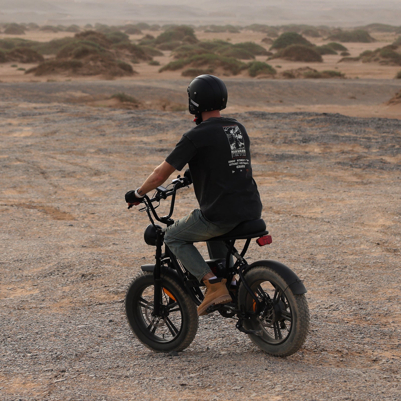
[[[182,136],[166,162],[177,170],[188,163],[199,207],[209,221],[241,223],[261,217],[249,137],[237,120],[207,119]]]

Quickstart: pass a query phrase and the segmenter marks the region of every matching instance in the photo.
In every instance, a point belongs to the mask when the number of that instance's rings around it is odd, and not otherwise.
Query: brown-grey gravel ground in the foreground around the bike
[[[126,285],[153,257],[124,193],[190,118],[20,101],[0,111],[0,399],[400,399],[400,120],[233,115],[273,237],[248,260],[304,279],[310,334],[275,358],[213,314],[174,356],[144,348],[124,317]],[[194,205],[183,189],[175,216]]]

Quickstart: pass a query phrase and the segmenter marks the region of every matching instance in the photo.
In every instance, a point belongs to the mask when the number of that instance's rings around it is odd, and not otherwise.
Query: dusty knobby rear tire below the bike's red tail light
[[[275,270],[267,266],[252,267],[245,274],[247,283],[253,289],[254,283],[265,280],[277,284],[282,290],[288,287],[288,284]],[[271,344],[263,339],[263,336],[255,334],[248,334],[251,341],[261,350],[268,354],[275,356],[289,356],[297,352],[302,344],[304,344],[309,330],[309,308],[304,294],[294,294],[290,288],[286,289],[286,298],[290,303],[292,312],[292,327],[288,338],[281,344]],[[238,304],[248,304],[251,296],[243,285],[240,286],[238,291]],[[245,320],[243,322],[244,328],[247,330],[259,330],[262,326],[256,319]]]

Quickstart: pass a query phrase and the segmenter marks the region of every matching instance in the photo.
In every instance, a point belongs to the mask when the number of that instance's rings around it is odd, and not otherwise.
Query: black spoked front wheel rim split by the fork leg
[[[167,344],[174,341],[182,332],[183,313],[178,296],[163,285],[160,298],[160,316],[153,316],[154,287],[147,285],[134,297],[134,318],[141,331],[154,342]]]

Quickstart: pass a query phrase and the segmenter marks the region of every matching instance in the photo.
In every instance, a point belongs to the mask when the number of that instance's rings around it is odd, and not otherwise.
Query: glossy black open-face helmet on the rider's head
[[[188,86],[188,108],[191,114],[201,116],[203,111],[223,110],[227,105],[227,88],[214,75],[199,75]]]

